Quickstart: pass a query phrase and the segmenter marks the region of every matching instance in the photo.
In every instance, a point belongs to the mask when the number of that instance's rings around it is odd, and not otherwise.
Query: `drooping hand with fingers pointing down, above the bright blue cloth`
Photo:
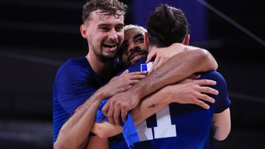
[[[111,97],[102,108],[102,112],[107,116],[111,124],[119,125],[119,115],[122,113],[122,121],[125,121],[127,112],[130,109],[134,109],[140,100],[134,97],[131,90],[127,90]]]

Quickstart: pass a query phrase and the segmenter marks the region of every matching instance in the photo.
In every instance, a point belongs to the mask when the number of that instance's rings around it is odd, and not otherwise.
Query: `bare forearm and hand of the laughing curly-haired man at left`
[[[128,73],[112,78],[110,83],[97,90],[86,102],[76,109],[74,114],[61,127],[54,148],[83,148],[88,142],[88,134],[95,121],[100,102],[107,97],[128,90],[146,76],[146,72]]]

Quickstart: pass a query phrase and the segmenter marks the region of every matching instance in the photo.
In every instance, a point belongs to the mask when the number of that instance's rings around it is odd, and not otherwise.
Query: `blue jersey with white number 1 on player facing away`
[[[141,59],[128,69],[130,72],[140,71]],[[172,103],[136,126],[140,142],[134,148],[210,148],[209,138],[211,121],[214,113],[223,112],[230,107],[228,89],[224,78],[216,71],[202,73],[200,79],[211,79],[217,85],[211,86],[219,91],[218,95],[210,95],[216,102],[208,103],[210,109],[197,105],[181,105]],[[128,148],[122,135],[109,138],[110,148]]]

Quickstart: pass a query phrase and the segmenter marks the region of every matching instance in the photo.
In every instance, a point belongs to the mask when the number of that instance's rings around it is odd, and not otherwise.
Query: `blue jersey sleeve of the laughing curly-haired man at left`
[[[68,114],[73,114],[77,107],[95,93],[88,78],[90,74],[81,66],[67,66],[57,78],[58,101]]]

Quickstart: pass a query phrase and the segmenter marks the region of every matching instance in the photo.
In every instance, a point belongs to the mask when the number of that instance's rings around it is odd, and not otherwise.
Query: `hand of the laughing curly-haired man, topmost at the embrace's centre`
[[[117,93],[129,90],[131,86],[138,83],[146,74],[147,71],[129,73],[129,71],[126,70],[120,76],[112,78],[101,90],[107,94],[106,97],[112,97]]]

